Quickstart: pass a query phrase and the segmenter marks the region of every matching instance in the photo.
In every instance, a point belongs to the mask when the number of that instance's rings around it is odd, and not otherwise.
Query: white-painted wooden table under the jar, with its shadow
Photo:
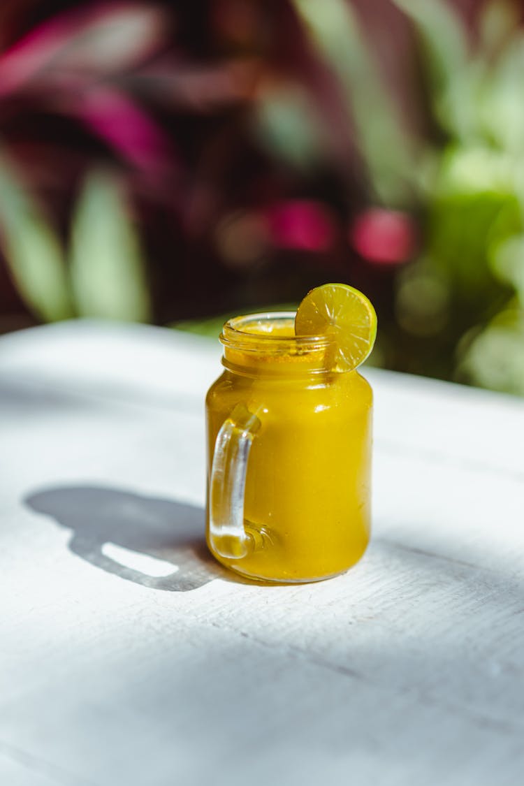
[[[0,784],[520,784],[524,403],[369,371],[374,534],[307,586],[203,546],[218,343],[0,339]]]

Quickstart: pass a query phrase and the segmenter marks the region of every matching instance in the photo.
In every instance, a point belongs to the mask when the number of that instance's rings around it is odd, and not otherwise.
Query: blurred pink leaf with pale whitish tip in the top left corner
[[[167,15],[156,6],[109,2],[62,13],[0,55],[0,96],[46,71],[107,74],[130,68],[164,41]]]

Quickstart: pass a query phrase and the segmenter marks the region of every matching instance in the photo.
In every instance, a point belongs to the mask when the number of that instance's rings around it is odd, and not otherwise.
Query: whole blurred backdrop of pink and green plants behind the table
[[[0,330],[346,281],[378,365],[524,395],[522,10],[2,3]]]

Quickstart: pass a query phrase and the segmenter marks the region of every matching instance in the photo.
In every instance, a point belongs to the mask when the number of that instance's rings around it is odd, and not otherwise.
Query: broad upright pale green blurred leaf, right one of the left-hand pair
[[[126,196],[112,174],[94,171],[76,205],[71,281],[79,314],[147,321],[148,288]]]

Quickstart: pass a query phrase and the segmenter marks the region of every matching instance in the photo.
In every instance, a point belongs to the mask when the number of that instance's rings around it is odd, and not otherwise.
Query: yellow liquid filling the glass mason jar
[[[253,330],[250,330],[253,332]],[[262,330],[260,331],[262,334]],[[267,332],[267,328],[265,331]],[[292,324],[273,336],[293,336]],[[310,357],[226,347],[225,373],[207,394],[208,479],[219,429],[238,404],[256,413],[244,526],[251,550],[214,556],[233,571],[305,582],[346,571],[370,527],[372,391],[356,371],[308,373]]]

